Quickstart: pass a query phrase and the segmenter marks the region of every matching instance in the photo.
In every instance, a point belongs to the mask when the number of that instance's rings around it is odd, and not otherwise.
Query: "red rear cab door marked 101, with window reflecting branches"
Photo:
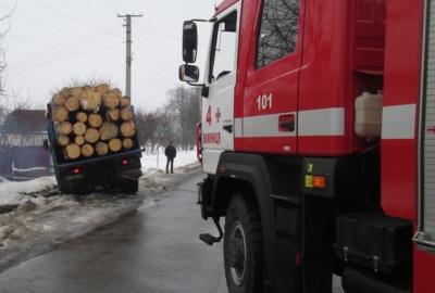
[[[296,153],[304,1],[262,2],[246,71],[243,149]]]

